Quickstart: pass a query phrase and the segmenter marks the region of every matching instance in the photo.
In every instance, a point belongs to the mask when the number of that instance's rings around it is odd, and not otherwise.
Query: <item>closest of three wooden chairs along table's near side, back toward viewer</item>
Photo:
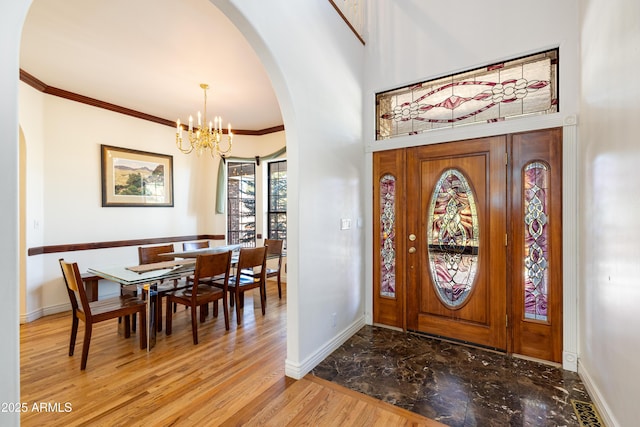
[[[191,331],[193,343],[198,344],[198,322],[196,309],[200,308],[200,322],[204,322],[208,313],[208,304],[214,302],[213,315],[218,315],[218,300],[222,300],[224,310],[224,326],[229,330],[229,307],[227,305],[227,292],[229,284],[229,272],[231,270],[231,252],[217,254],[198,255],[196,258],[196,270],[194,272],[194,284],[191,288],[181,289],[166,294],[167,300],[167,324],[165,333],[171,335],[173,313],[171,304],[182,304],[191,308]],[[224,276],[220,287],[210,286],[214,277]]]

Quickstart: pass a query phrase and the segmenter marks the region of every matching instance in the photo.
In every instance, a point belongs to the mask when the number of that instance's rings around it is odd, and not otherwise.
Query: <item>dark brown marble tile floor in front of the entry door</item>
[[[576,373],[373,326],[313,374],[455,427],[579,426],[571,400],[591,402]]]

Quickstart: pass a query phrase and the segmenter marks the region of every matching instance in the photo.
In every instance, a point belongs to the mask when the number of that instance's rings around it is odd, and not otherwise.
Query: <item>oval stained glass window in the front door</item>
[[[475,196],[462,172],[442,173],[427,215],[429,266],[436,294],[447,307],[459,308],[473,290],[480,243]]]

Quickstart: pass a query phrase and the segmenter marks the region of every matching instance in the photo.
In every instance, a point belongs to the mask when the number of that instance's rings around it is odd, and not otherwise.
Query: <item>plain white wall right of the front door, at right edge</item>
[[[608,425],[638,425],[640,3],[581,2],[581,373]]]

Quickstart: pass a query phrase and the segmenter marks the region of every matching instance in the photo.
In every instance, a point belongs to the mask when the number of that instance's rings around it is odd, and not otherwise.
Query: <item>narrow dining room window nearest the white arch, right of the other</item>
[[[270,239],[284,240],[287,247],[287,161],[269,163],[269,209],[267,214]]]

